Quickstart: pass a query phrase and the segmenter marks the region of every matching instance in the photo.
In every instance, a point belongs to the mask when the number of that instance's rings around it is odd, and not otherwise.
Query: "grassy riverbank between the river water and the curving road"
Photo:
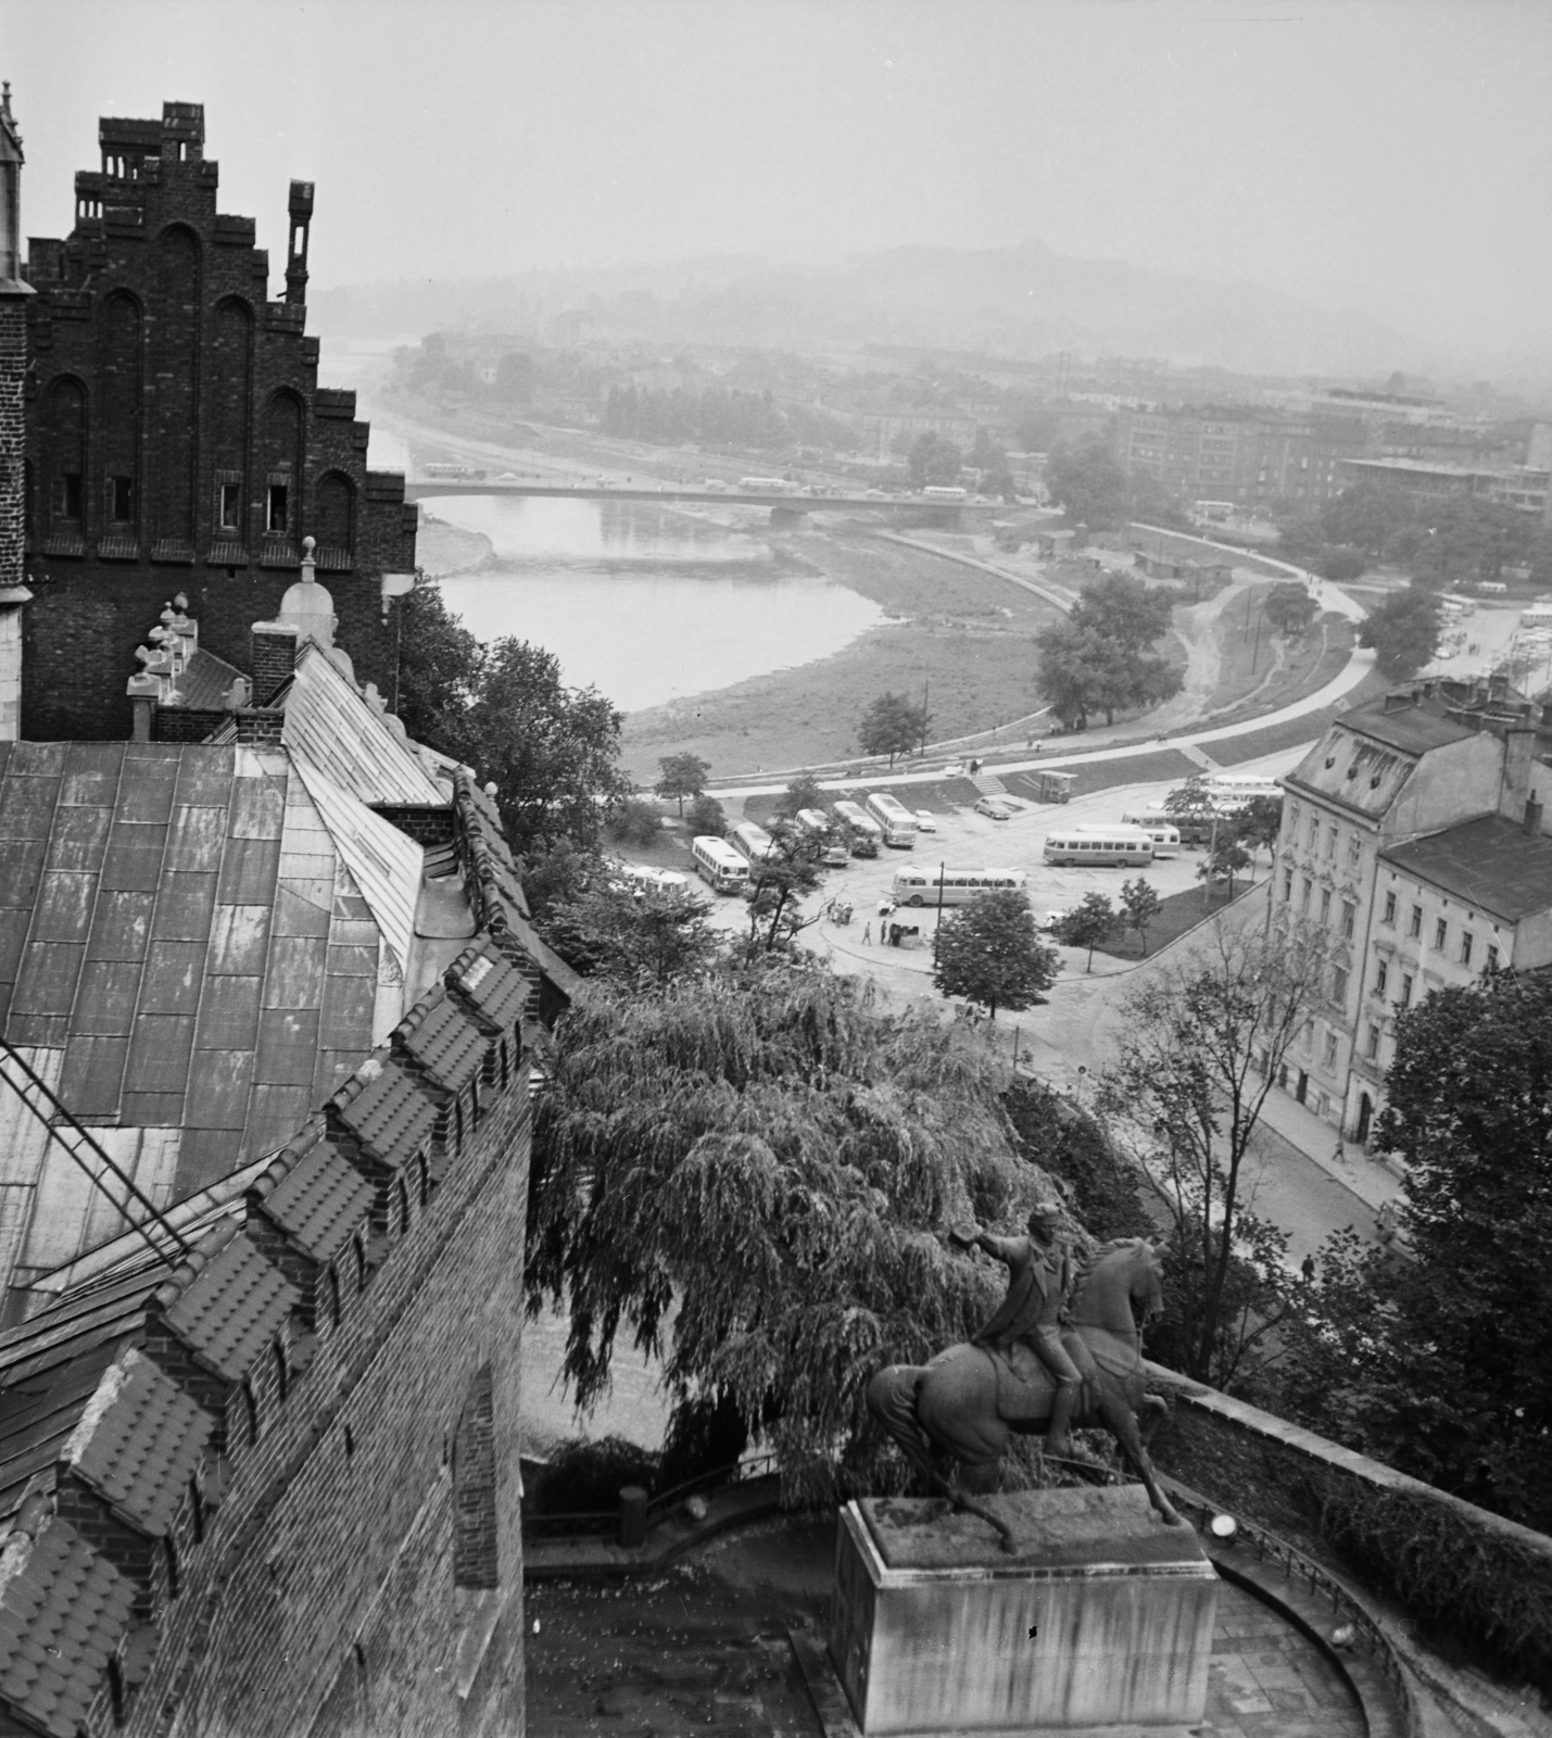
[[[886,690],[926,693],[933,740],[1039,709],[1032,636],[1058,615],[1043,598],[850,525],[820,521],[770,542],[892,620],[832,657],[627,714],[620,763],[638,782],[657,777],[664,754],[699,754],[720,777],[843,760],[860,753],[862,713]]]

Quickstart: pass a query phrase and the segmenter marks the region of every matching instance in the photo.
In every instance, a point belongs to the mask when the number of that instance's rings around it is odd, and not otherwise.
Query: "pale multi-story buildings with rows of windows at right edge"
[[[1552,958],[1538,773],[1552,787],[1528,721],[1420,690],[1338,720],[1284,780],[1274,911],[1323,928],[1328,954],[1279,1085],[1357,1140],[1397,1012],[1488,965]]]

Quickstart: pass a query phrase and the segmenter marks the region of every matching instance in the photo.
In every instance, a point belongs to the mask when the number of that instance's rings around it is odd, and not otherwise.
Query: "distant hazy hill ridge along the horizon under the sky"
[[[1418,344],[1361,313],[1258,283],[1072,259],[1043,242],[1010,249],[897,247],[838,266],[749,257],[534,271],[483,282],[348,285],[313,295],[320,330],[443,328],[720,342],[779,349],[893,344],[1010,358],[1156,358],[1241,374],[1415,368]]]

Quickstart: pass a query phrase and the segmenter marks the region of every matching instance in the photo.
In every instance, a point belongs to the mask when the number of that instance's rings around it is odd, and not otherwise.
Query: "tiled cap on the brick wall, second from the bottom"
[[[209,1441],[209,1413],[129,1347],[103,1376],[63,1458],[134,1526],[160,1538]]]

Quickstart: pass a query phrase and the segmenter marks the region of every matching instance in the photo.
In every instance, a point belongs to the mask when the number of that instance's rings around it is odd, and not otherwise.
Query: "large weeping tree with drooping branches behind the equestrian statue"
[[[570,1312],[579,1406],[627,1326],[674,1427],[735,1408],[784,1500],[899,1484],[869,1376],[968,1338],[999,1295],[944,1229],[1011,1229],[1051,1191],[1015,1152],[1005,1076],[973,1034],[791,959],[655,994],[587,985],[537,1105],[527,1251],[530,1309]]]

